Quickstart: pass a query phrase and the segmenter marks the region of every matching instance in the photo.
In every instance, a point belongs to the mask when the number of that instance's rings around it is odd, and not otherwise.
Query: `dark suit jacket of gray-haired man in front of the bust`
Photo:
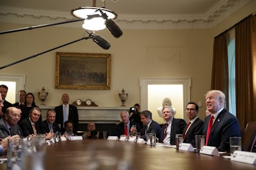
[[[175,135],[176,134],[183,134],[184,128],[186,127],[185,120],[181,118],[173,118],[172,119],[172,127],[171,127],[171,134],[170,134],[170,145],[176,145]],[[164,135],[164,129],[166,124],[162,127],[161,136]]]

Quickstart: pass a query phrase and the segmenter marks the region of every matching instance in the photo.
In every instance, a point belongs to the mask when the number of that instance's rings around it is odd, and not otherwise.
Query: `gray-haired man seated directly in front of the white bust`
[[[187,124],[181,118],[174,118],[174,110],[171,106],[163,107],[163,118],[166,124],[162,127],[162,142],[166,145],[176,145],[175,135],[183,134]]]

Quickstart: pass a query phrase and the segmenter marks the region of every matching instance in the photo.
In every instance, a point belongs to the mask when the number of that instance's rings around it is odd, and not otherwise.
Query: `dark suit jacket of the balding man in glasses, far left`
[[[2,132],[0,133],[0,138],[6,138],[15,134],[19,134],[21,138],[23,137],[22,130],[20,129],[19,125],[13,125],[12,130],[9,130],[4,122],[4,118],[1,118],[0,120],[0,130]]]

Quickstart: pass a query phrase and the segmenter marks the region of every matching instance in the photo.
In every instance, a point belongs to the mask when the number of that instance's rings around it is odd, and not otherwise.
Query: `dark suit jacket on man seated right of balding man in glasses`
[[[29,136],[29,134],[34,134],[33,131],[33,127],[31,125],[31,122],[29,120],[29,118],[24,118],[24,120],[22,120],[21,122],[19,122],[20,128],[22,130],[22,133],[24,135],[24,137]],[[36,122],[35,123],[35,127],[36,127],[36,133],[40,134],[40,122]]]

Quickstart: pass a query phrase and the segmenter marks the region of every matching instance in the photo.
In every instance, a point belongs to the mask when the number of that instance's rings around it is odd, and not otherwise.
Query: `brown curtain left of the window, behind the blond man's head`
[[[225,94],[228,109],[227,32],[223,32],[214,39],[211,89],[221,90]]]

